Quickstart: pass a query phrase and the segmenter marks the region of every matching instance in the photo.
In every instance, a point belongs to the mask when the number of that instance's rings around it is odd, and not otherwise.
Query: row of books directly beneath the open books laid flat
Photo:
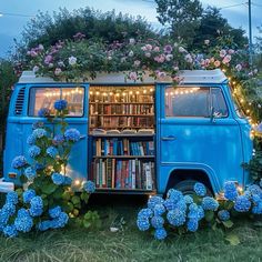
[[[93,140],[93,153],[101,155],[154,155],[153,141],[133,141],[130,139],[99,138]]]

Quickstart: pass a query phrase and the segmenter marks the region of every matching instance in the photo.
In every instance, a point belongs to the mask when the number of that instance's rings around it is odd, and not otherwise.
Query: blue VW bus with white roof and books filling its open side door
[[[10,102],[3,181],[19,182],[11,161],[29,159],[27,137],[36,121],[46,121],[38,111],[66,99],[67,122],[81,133],[67,167],[75,187],[93,180],[97,192],[142,194],[191,192],[195,181],[212,194],[229,180],[245,187],[251,128],[224,73],[193,70],[180,78],[175,87],[170,79],[134,82],[123,73],[63,83],[23,72]]]

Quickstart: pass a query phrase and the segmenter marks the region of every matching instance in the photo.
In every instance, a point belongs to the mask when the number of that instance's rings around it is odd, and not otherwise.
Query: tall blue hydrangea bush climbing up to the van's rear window
[[[99,224],[97,212],[89,211],[80,216],[82,204],[88,203],[90,193],[95,190],[93,182],[84,182],[82,192],[75,193],[71,188],[72,179],[66,174],[71,148],[80,139],[77,129],[67,127],[67,105],[66,100],[54,102],[57,118],[50,118],[44,109],[39,111],[39,115],[52,122],[57,133],[43,123],[34,123],[27,139],[30,159],[18,155],[12,161],[23,188],[9,192],[0,209],[0,231],[6,236],[63,228],[69,220],[85,228]]]

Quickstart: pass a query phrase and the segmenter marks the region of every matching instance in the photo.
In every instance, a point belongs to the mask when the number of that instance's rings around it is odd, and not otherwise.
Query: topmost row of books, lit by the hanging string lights
[[[89,95],[89,102],[153,102],[154,95],[152,92],[148,91],[147,94],[143,93],[144,90],[140,91],[130,91],[130,92],[122,92],[122,93],[112,93],[112,92],[93,92]]]

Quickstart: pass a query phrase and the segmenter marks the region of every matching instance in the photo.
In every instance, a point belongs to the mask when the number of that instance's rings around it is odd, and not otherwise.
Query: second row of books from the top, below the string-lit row
[[[153,114],[153,104],[90,104],[90,114]]]

